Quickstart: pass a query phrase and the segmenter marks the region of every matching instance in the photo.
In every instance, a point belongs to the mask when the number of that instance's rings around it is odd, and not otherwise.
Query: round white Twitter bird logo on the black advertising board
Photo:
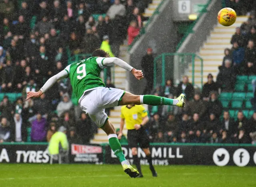
[[[214,151],[212,159],[216,165],[225,166],[229,162],[230,155],[226,149],[218,148]]]

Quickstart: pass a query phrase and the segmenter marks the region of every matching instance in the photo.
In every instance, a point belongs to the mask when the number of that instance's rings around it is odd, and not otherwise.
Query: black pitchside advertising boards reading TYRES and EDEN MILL
[[[0,144],[0,163],[49,163],[47,143]],[[70,163],[120,164],[108,144],[70,146]],[[126,158],[133,163],[132,151],[122,145]],[[234,165],[256,166],[256,146],[252,144],[151,143],[154,165]],[[142,165],[146,155],[138,149]]]

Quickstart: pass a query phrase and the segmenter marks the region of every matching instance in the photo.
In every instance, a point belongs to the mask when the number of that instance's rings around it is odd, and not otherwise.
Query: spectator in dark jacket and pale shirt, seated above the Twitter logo
[[[226,134],[230,137],[234,135],[235,129],[235,121],[230,117],[229,111],[224,111],[223,119],[222,119],[222,128],[220,129],[220,133],[222,131],[226,131]]]

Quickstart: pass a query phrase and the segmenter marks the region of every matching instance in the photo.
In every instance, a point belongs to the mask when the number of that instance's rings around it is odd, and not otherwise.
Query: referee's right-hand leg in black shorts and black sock
[[[140,147],[143,149],[144,153],[146,154],[146,157],[148,159],[149,168],[152,172],[153,177],[157,177],[156,170],[152,164],[152,157],[151,157],[151,153],[149,150],[149,143],[150,143],[150,141],[148,138],[148,134],[146,133],[146,130],[140,129],[140,139],[139,139]]]

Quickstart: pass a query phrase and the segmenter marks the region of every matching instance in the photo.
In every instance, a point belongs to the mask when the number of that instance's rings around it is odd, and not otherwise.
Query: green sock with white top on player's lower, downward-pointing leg
[[[123,153],[122,147],[117,139],[117,135],[116,134],[108,135],[108,142],[109,142],[109,145],[110,145],[112,151],[114,151],[116,157],[118,157],[118,159],[122,163],[122,165],[129,164],[129,162],[124,157],[124,153]]]

